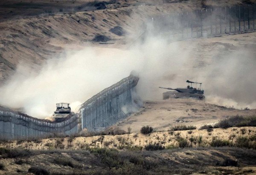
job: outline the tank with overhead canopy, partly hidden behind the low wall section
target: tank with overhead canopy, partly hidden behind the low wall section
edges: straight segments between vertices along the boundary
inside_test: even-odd
[[[69,105],[69,103],[57,103],[57,108],[54,111],[52,118],[55,119],[55,121],[60,122],[69,115],[75,115],[75,113],[71,112],[71,107]]]

